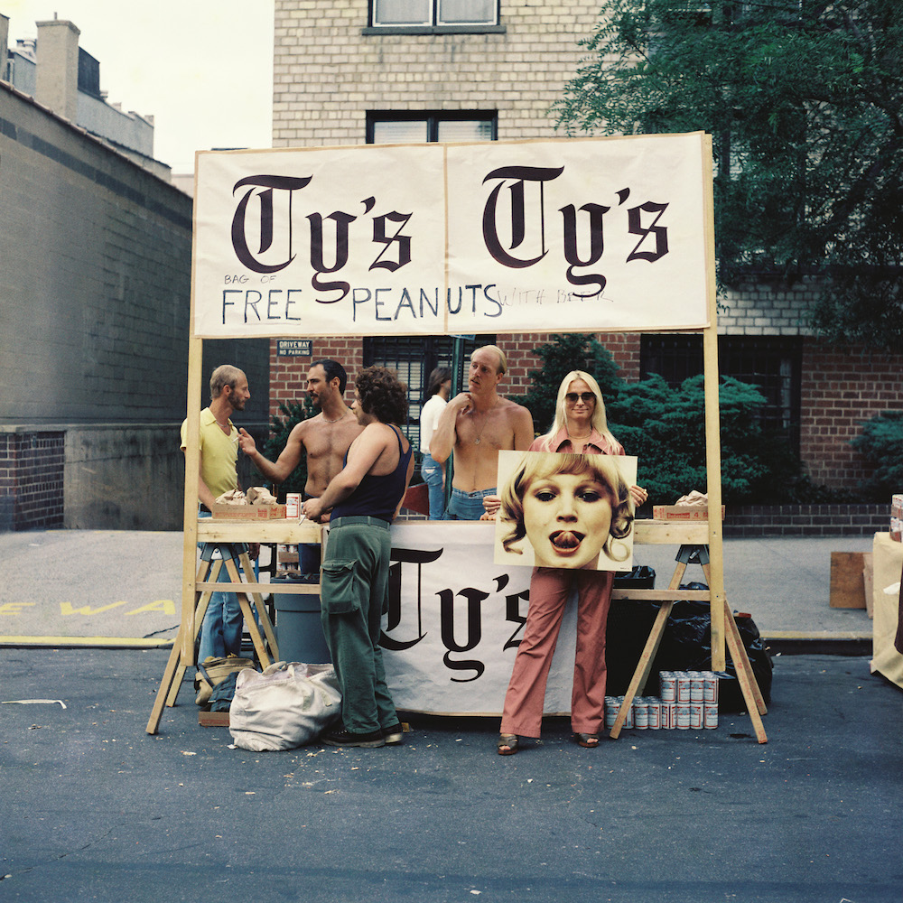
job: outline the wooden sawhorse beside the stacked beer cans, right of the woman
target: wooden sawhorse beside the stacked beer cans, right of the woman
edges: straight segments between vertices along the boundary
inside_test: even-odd
[[[706,581],[711,582],[709,576],[709,547],[707,545],[681,545],[680,552],[677,554],[675,573],[668,584],[668,590],[678,590],[680,588],[687,565],[694,563],[702,566]],[[624,722],[627,720],[627,713],[633,705],[634,697],[642,694],[646,687],[649,672],[652,670],[652,663],[658,652],[662,636],[665,633],[665,625],[671,615],[674,604],[675,600],[673,599],[663,601],[661,608],[658,610],[655,623],[649,632],[646,646],[639,656],[637,670],[630,680],[627,693],[624,694],[624,702],[621,703],[618,717],[615,720],[614,727],[611,729],[609,736],[612,740],[618,739],[621,729],[624,727]],[[765,700],[762,698],[756,675],[753,674],[752,666],[749,664],[749,656],[743,647],[740,631],[737,629],[737,624],[733,619],[733,613],[727,600],[724,600],[724,635],[727,640],[728,651],[731,653],[731,659],[737,670],[737,679],[740,681],[740,690],[743,693],[743,699],[746,701],[749,718],[752,720],[753,728],[756,731],[756,739],[759,740],[759,743],[767,743],[768,737],[765,734],[765,727],[760,716],[766,714],[768,709],[765,706]]]

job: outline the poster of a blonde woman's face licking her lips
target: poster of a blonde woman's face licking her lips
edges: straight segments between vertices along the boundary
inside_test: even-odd
[[[629,571],[636,482],[628,455],[499,452],[493,561]]]

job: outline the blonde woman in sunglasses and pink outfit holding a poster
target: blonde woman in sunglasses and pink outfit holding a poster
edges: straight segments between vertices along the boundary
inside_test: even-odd
[[[638,486],[623,487],[623,481],[619,485],[617,478],[612,478],[610,474],[606,476],[607,471],[588,467],[580,472],[574,466],[574,459],[580,455],[624,454],[620,443],[609,432],[599,384],[590,374],[573,370],[564,377],[558,389],[552,429],[536,439],[530,446],[530,451],[566,452],[565,461],[570,463],[565,470],[578,471],[567,475],[572,478],[570,488],[566,491],[571,494],[571,507],[574,510],[564,511],[560,515],[563,520],[558,535],[555,536],[554,531],[547,531],[547,535],[551,537],[549,545],[557,545],[558,552],[583,545],[582,537],[587,534],[576,528],[577,521],[574,519],[577,517],[575,508],[581,501],[584,507],[598,507],[602,514],[608,508],[608,529],[603,533],[604,543],[619,538],[618,533],[627,535],[622,531],[629,531],[633,507],[646,501],[646,490]],[[540,479],[547,480],[548,476]],[[555,491],[537,483],[536,479],[531,479],[524,487],[523,498],[530,495],[531,489],[534,496],[548,496]],[[564,494],[565,490],[562,492]],[[582,499],[579,498],[581,493]],[[541,502],[542,498],[536,500]],[[521,519],[525,522],[526,532],[527,517]],[[598,530],[600,526],[597,525],[596,528]],[[537,535],[541,537],[542,533]],[[585,554],[581,558],[582,563],[577,566],[558,563],[554,567],[541,565],[533,569],[524,638],[517,647],[514,670],[505,695],[498,737],[500,756],[516,753],[519,737],[540,736],[545,684],[561,629],[564,606],[573,588],[577,590],[578,602],[571,727],[573,739],[580,746],[592,749],[599,745],[599,732],[605,715],[605,627],[614,573],[595,570],[598,554],[585,561],[584,557]],[[548,562],[555,559],[543,557],[542,560]]]

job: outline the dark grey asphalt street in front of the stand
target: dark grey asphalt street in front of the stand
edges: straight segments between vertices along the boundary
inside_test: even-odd
[[[0,648],[0,900],[898,903],[903,694],[863,656],[777,656],[768,743],[409,716],[400,747],[233,749],[167,653]]]

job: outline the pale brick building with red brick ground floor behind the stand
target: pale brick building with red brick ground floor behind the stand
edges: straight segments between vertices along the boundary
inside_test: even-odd
[[[276,0],[274,146],[554,136],[549,107],[598,13],[577,0]],[[762,387],[768,417],[816,482],[852,487],[865,464],[849,442],[862,420],[900,406],[903,357],[825,347],[805,326],[811,292],[763,281],[721,297],[720,369]],[[507,394],[526,388],[545,338],[498,337],[511,364]],[[628,379],[660,373],[679,382],[702,370],[698,335],[600,340]],[[443,337],[336,338],[313,340],[312,357],[338,358],[352,373],[398,366],[417,402],[450,347]],[[310,359],[282,357],[271,342],[273,413],[302,393]]]

